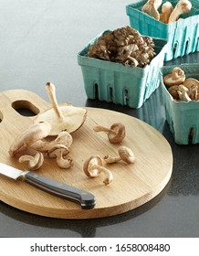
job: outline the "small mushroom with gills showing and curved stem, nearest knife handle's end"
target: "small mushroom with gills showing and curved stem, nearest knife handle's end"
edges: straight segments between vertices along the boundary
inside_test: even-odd
[[[104,173],[105,178],[103,183],[105,185],[110,184],[113,180],[112,173],[109,169],[102,166],[103,162],[99,155],[92,155],[87,159],[83,165],[84,173],[89,177],[97,177],[100,173]]]

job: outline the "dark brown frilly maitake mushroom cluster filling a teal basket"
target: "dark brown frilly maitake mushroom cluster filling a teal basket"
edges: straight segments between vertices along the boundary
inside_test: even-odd
[[[121,27],[99,37],[89,46],[87,56],[144,68],[155,56],[154,42],[134,28]]]

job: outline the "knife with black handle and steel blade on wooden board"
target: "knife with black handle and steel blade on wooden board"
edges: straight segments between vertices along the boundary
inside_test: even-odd
[[[39,176],[30,171],[21,171],[15,167],[0,163],[0,174],[15,180],[25,181],[49,194],[78,203],[82,209],[94,208],[96,203],[95,196],[85,190],[71,187],[68,184],[60,183],[45,176]]]

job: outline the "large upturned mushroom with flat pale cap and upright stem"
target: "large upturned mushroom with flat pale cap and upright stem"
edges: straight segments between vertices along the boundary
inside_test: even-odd
[[[51,132],[49,135],[58,135],[62,131],[68,131],[68,133],[77,131],[86,120],[87,110],[74,107],[70,103],[58,104],[56,89],[51,82],[47,82],[46,90],[52,108],[39,113],[35,119],[35,123],[50,123]]]

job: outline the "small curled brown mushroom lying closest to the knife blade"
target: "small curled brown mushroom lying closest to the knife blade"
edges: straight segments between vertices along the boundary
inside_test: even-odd
[[[22,155],[19,157],[18,161],[19,163],[25,163],[28,170],[36,171],[43,165],[44,155],[40,152],[37,152],[36,155]]]

